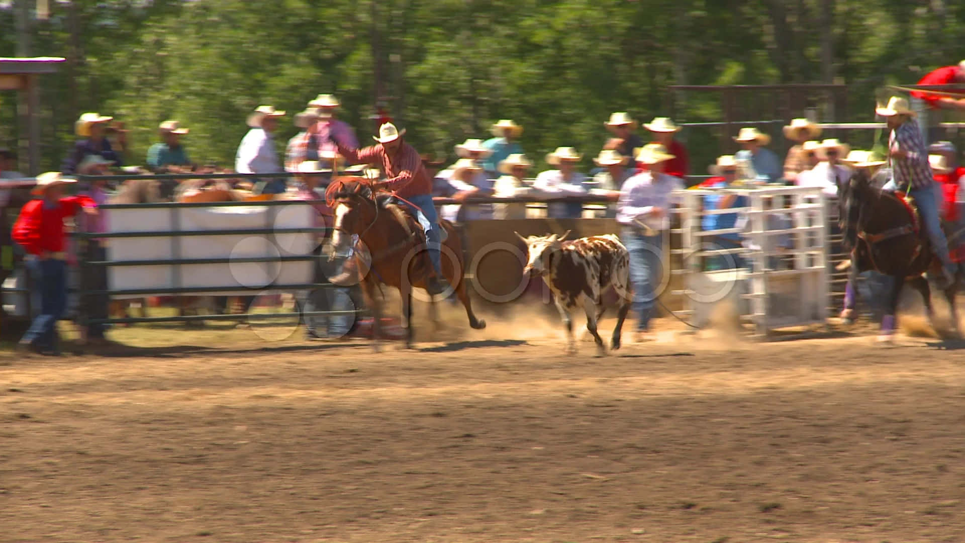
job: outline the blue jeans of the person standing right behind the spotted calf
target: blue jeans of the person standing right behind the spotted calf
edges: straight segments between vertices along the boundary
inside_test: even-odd
[[[630,253],[630,283],[633,285],[633,311],[639,321],[637,329],[649,329],[653,303],[659,293],[663,273],[663,237],[644,236],[632,228],[623,228],[620,241]]]

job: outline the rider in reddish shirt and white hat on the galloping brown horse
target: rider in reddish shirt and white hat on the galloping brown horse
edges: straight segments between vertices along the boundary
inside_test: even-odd
[[[406,204],[414,208],[419,224],[426,232],[426,248],[434,277],[427,278],[426,290],[430,295],[441,294],[449,288],[449,284],[442,275],[439,230],[439,219],[432,203],[432,180],[426,173],[422,157],[402,136],[405,129],[399,131],[396,126],[386,123],[378,128],[378,137],[372,139],[378,142],[364,149],[345,147],[342,141],[335,138],[339,147],[339,154],[349,163],[368,163],[379,166],[385,172],[386,180],[372,184],[372,189],[387,188],[395,192]]]

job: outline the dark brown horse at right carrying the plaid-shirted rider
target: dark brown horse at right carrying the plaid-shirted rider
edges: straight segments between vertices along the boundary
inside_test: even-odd
[[[871,186],[864,171],[855,173],[841,186],[841,232],[844,246],[851,253],[848,283],[844,292],[841,320],[853,323],[855,287],[858,274],[875,271],[895,278],[892,291],[885,300],[879,340],[890,340],[895,333],[895,314],[901,287],[907,283],[922,294],[928,319],[932,317],[931,289],[925,272],[939,272],[941,263],[931,252],[928,237],[921,232],[921,220],[894,193]],[[960,277],[944,291],[951,307],[951,320],[958,333],[955,291]]]

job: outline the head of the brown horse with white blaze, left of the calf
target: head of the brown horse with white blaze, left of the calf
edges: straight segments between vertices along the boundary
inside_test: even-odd
[[[352,235],[361,236],[372,226],[377,214],[372,186],[357,177],[337,177],[325,189],[325,203],[335,213],[331,248],[345,252]]]

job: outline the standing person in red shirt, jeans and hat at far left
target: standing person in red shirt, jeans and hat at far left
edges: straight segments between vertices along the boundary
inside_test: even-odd
[[[63,186],[75,180],[59,172],[37,176],[33,194],[40,198],[27,202],[14,223],[14,242],[27,250],[26,259],[41,308],[30,329],[23,334],[17,350],[59,355],[57,321],[67,308],[67,254],[64,217],[81,209],[96,215],[96,203],[87,196],[64,196]]]

